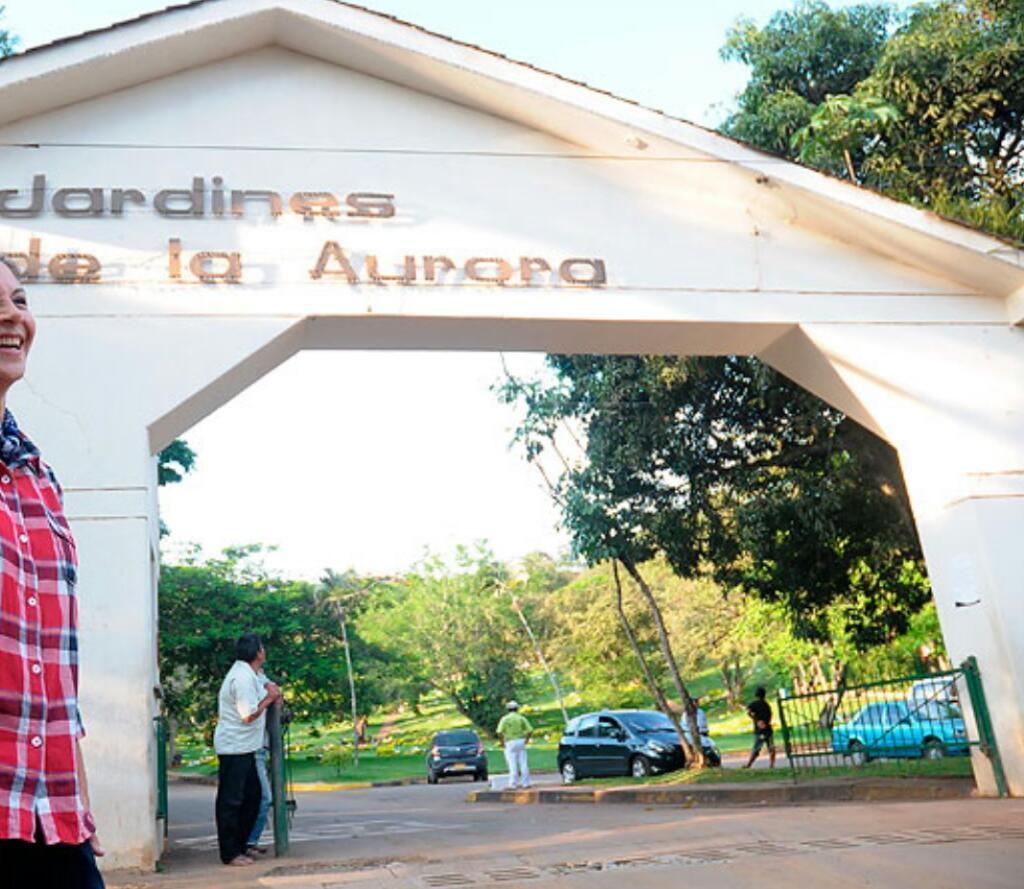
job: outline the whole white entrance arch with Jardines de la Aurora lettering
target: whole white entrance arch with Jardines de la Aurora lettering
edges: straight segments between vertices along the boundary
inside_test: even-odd
[[[159,848],[154,455],[301,349],[760,356],[898,449],[1024,794],[1019,251],[334,0],[201,0],[0,65],[0,251],[34,279],[11,400],[80,544],[112,865]]]

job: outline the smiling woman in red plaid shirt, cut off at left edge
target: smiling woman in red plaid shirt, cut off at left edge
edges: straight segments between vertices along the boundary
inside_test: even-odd
[[[35,336],[25,288],[0,261],[0,866],[5,885],[96,889],[75,542],[53,471],[6,410]]]

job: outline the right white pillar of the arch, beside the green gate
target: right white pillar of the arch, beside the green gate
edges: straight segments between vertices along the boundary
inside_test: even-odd
[[[899,450],[946,645],[955,662],[977,657],[1010,791],[1024,796],[1024,330],[852,325],[805,335],[819,354],[796,350],[778,364],[814,390],[805,372],[823,355]],[[978,771],[993,793],[987,768]]]

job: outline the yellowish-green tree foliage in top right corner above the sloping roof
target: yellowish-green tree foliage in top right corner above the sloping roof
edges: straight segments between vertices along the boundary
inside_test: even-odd
[[[864,182],[1024,241],[1024,4],[915,7],[858,92],[900,111]]]

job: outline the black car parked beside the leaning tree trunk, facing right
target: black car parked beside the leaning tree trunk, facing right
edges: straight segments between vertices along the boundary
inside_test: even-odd
[[[721,762],[714,742],[701,740],[710,761]],[[607,775],[643,777],[684,765],[679,735],[656,710],[587,713],[569,720],[558,743],[558,770],[565,784]]]

